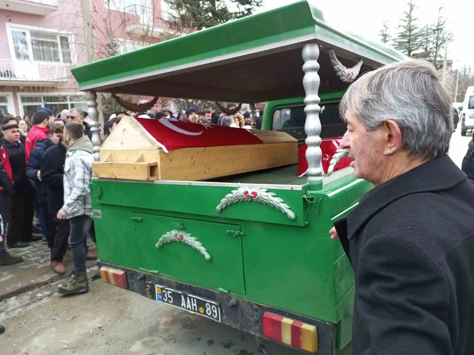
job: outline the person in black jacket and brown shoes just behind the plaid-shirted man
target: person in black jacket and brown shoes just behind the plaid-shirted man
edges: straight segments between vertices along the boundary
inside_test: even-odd
[[[64,274],[63,257],[67,251],[69,221],[59,220],[56,215],[64,204],[64,161],[66,147],[62,140],[46,149],[40,160],[40,176],[46,186],[48,214],[54,222],[55,233],[51,248],[51,268],[57,274]]]

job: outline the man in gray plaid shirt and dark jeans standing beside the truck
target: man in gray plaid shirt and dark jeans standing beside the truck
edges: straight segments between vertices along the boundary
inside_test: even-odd
[[[63,142],[67,145],[64,163],[64,205],[58,219],[69,219],[69,246],[73,252],[74,272],[67,285],[59,286],[60,294],[89,291],[86,273],[85,240],[92,222],[91,183],[92,143],[77,122],[64,126]]]

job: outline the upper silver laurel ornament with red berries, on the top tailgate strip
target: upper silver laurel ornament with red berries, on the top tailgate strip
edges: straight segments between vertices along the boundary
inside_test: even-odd
[[[231,204],[250,201],[255,201],[276,208],[292,221],[296,219],[296,214],[292,211],[292,208],[286,204],[282,198],[278,197],[273,192],[269,192],[265,188],[239,187],[237,190],[232,190],[230,193],[225,195],[222,200],[220,200],[220,203],[216,207],[216,211],[217,213],[220,213]]]

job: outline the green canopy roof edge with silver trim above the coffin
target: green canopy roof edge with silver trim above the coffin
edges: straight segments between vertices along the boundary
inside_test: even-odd
[[[125,80],[133,75],[164,69],[173,71],[172,68],[179,65],[192,66],[198,61],[208,61],[222,55],[231,56],[239,51],[311,34],[316,38],[331,40],[356,53],[364,53],[380,64],[407,58],[386,44],[337,29],[336,25],[325,21],[319,9],[302,0],[73,68],[72,73],[80,88],[93,88],[94,85],[100,86],[100,83],[109,80]]]

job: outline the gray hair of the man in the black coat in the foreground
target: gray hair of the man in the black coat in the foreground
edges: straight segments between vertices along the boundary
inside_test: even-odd
[[[339,104],[344,117],[359,117],[367,131],[384,122],[398,124],[403,148],[413,157],[445,154],[453,132],[449,91],[428,62],[408,60],[362,75],[349,86]]]

